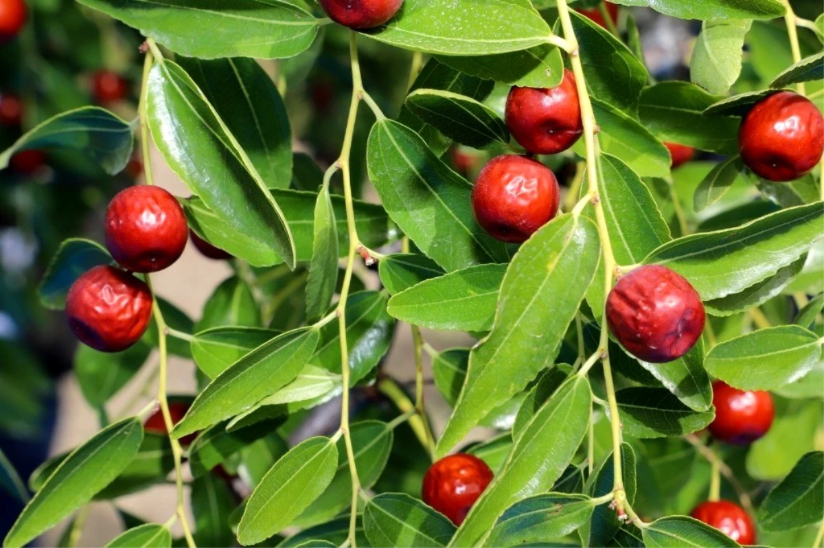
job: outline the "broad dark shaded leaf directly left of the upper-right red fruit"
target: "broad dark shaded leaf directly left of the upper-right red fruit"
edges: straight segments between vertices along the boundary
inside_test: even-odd
[[[737,154],[737,118],[708,118],[704,111],[723,99],[685,81],[663,81],[641,94],[641,123],[662,141],[702,151]]]

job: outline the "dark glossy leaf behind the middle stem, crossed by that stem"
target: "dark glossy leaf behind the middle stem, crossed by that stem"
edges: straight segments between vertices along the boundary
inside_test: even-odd
[[[389,351],[395,334],[395,319],[386,313],[387,295],[361,291],[346,302],[346,341],[349,346],[349,385],[366,377]],[[340,373],[340,329],[337,322],[321,327],[321,341],[313,364]]]

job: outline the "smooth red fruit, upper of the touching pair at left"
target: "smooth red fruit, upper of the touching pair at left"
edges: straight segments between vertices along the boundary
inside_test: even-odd
[[[157,272],[183,253],[189,227],[183,207],[163,188],[138,185],[117,193],[105,215],[105,244],[132,272]]]

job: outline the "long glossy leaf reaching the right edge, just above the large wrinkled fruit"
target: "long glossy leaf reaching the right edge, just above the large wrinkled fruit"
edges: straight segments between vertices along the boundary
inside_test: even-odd
[[[746,290],[807,252],[824,235],[824,202],[790,207],[728,230],[672,240],[650,253],[686,277],[702,300]],[[765,260],[768,258],[768,260]]]

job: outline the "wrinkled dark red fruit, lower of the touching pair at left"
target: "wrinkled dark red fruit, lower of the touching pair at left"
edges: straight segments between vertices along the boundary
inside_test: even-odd
[[[101,265],[69,288],[66,316],[82,343],[101,352],[124,351],[146,331],[152,317],[152,292],[129,272]]]

